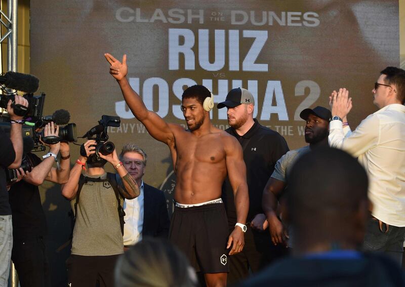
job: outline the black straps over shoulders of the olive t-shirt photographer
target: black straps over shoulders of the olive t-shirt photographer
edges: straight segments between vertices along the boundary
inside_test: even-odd
[[[116,180],[115,174],[113,173],[107,173],[107,177],[105,179],[101,179],[101,178],[91,178],[91,177],[85,177],[83,174],[80,175],[79,178],[79,183],[78,183],[78,189],[76,192],[76,198],[74,201],[74,214],[73,214],[73,219],[74,221],[76,221],[76,214],[77,214],[77,204],[79,202],[79,197],[80,197],[80,191],[82,190],[82,187],[85,183],[88,182],[106,182],[108,181],[109,184],[111,185],[112,189],[114,190],[115,193],[115,198],[117,199],[117,210],[118,210],[118,217],[119,217],[119,225],[121,227],[121,233],[123,233],[124,235],[124,216],[125,216],[125,212],[124,212],[124,208],[121,206],[121,200],[120,200],[120,195],[119,195],[119,191],[118,191],[118,182]]]

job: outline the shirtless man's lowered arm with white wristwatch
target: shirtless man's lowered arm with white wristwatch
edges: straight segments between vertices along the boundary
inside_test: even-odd
[[[249,194],[248,183],[246,180],[246,165],[242,153],[242,147],[232,136],[226,136],[224,139],[226,169],[228,171],[229,182],[234,194],[236,221],[238,223],[246,224],[246,218],[249,211]],[[229,252],[229,255],[241,252],[245,245],[244,233],[239,226],[235,226],[234,230],[229,235],[227,248],[229,248],[231,244],[232,249]]]

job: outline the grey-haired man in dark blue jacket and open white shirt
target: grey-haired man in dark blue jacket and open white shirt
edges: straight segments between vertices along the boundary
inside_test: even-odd
[[[126,144],[119,158],[140,189],[138,197],[124,202],[125,248],[145,236],[167,238],[170,220],[165,194],[142,180],[146,168],[146,153],[134,144]]]

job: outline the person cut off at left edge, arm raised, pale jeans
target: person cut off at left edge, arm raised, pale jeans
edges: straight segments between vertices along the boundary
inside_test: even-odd
[[[9,100],[7,112],[10,116],[10,137],[0,129],[0,286],[6,286],[9,279],[10,257],[13,247],[13,227],[9,193],[7,191],[5,169],[15,169],[21,165],[22,158],[22,116],[15,114],[14,106],[28,106],[21,96],[15,96],[14,103]]]

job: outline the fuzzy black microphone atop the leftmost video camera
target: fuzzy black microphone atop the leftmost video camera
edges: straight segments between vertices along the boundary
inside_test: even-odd
[[[7,72],[0,76],[0,84],[9,89],[32,94],[38,90],[39,79],[29,74]]]

